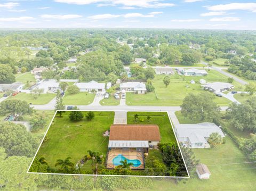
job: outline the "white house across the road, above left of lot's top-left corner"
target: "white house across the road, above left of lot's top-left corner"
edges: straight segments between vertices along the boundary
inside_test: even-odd
[[[35,88],[43,89],[44,90],[43,93],[46,94],[49,91],[54,92],[58,89],[60,90],[60,83],[54,79],[45,79],[45,80],[39,81]]]

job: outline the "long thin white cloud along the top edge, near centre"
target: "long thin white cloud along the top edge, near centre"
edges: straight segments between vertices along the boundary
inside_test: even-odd
[[[161,3],[162,0],[54,0],[58,3],[68,3],[76,5],[88,5],[101,3],[100,6],[121,5],[124,7],[161,8],[175,6],[173,3]]]

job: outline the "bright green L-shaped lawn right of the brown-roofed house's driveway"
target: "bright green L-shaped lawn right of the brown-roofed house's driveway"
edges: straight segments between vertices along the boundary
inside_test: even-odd
[[[138,113],[139,119],[134,121],[134,114]],[[147,116],[150,121],[147,121]],[[142,121],[143,119],[143,121]],[[161,143],[176,142],[172,126],[166,112],[127,112],[127,124],[157,124],[161,135]]]

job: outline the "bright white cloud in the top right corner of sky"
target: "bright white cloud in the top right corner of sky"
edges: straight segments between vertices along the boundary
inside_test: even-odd
[[[211,11],[247,10],[256,12],[256,3],[230,3],[207,6],[206,8]]]

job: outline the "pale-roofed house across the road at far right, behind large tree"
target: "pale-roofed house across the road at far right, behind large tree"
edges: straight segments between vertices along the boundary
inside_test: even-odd
[[[205,90],[209,90],[215,94],[234,89],[235,86],[227,82],[212,82],[202,85]]]

